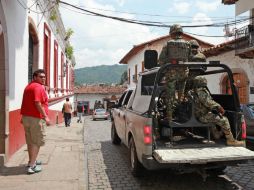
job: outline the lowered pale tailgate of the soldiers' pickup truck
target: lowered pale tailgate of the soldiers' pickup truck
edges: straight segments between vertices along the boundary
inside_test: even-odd
[[[158,149],[154,151],[153,156],[159,163],[204,164],[253,159],[254,152],[244,147]]]

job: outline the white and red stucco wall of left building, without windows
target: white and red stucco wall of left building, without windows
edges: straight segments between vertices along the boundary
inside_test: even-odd
[[[1,72],[2,79],[4,80],[2,86],[4,86],[3,92],[6,93],[5,99],[0,96],[0,102],[5,109],[5,113],[2,119],[5,123],[1,123],[1,126],[5,126],[3,129],[0,128],[1,147],[4,147],[4,152],[0,150],[1,154],[5,154],[5,157],[9,158],[15,151],[17,151],[25,142],[24,130],[20,123],[20,106],[22,102],[22,95],[25,86],[28,84],[28,57],[29,57],[29,22],[33,22],[34,35],[37,35],[38,39],[38,52],[34,52],[37,56],[36,68],[43,68],[43,55],[44,55],[44,23],[47,23],[51,30],[51,41],[50,41],[50,88],[54,87],[54,40],[58,41],[58,73],[60,75],[61,69],[61,52],[64,53],[63,44],[65,43],[63,38],[59,37],[56,33],[54,22],[47,19],[48,11],[50,7],[41,8],[46,6],[49,1],[39,0],[35,3],[34,0],[1,0],[0,1],[0,21],[4,31],[4,60],[1,60]],[[21,3],[21,4],[20,4]],[[30,7],[33,5],[32,7]],[[27,7],[31,8],[31,11],[27,10]],[[42,12],[45,11],[44,14]],[[60,18],[60,17],[59,17]],[[58,19],[59,19],[58,18]],[[60,29],[63,29],[60,28]],[[62,41],[60,41],[62,40]],[[1,39],[1,43],[2,43]],[[34,60],[34,59],[33,59]],[[70,74],[69,74],[70,76]],[[5,77],[5,78],[4,78]],[[57,77],[58,78],[58,77]],[[70,77],[69,77],[70,79]],[[61,87],[60,77],[58,78],[58,88]],[[66,88],[66,81],[64,78],[64,89]],[[2,95],[4,95],[2,93]],[[49,107],[49,117],[54,124],[56,122],[56,115],[59,114],[62,108],[64,99],[61,99],[62,95],[70,95],[71,91],[64,91],[64,94],[59,93],[58,96],[53,94],[51,98],[56,98],[57,104],[53,104]],[[65,96],[63,96],[65,97]],[[73,97],[70,97],[73,102]],[[4,103],[5,102],[5,103]],[[1,107],[1,106],[0,106]],[[59,122],[62,122],[62,116],[58,118]],[[3,145],[3,142],[5,143]],[[1,149],[1,148],[0,148]],[[1,163],[0,163],[1,164]]]

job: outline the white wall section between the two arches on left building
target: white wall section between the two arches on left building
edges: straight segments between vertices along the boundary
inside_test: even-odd
[[[9,109],[20,108],[28,73],[28,20],[17,1],[2,1],[8,41],[9,57]],[[15,12],[15,14],[13,14]]]

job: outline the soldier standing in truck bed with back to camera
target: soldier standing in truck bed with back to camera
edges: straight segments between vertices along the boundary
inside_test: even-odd
[[[182,39],[182,27],[178,24],[170,27],[171,40],[162,48],[159,55],[159,64],[179,64],[188,61],[189,43]],[[166,91],[167,91],[167,118],[172,120],[174,106],[184,97],[184,88],[188,77],[187,67],[170,68],[166,74]],[[176,101],[176,86],[178,87]]]

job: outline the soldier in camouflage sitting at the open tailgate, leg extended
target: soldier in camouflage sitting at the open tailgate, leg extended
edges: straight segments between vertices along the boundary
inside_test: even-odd
[[[194,100],[195,100],[195,116],[202,123],[214,123],[221,127],[227,139],[227,145],[242,146],[243,141],[234,139],[228,118],[223,116],[225,110],[215,102],[207,90],[207,80],[205,77],[195,77],[194,79]],[[212,129],[214,136],[218,136],[218,130]],[[216,138],[216,137],[215,137]],[[218,137],[217,137],[218,138]]]

